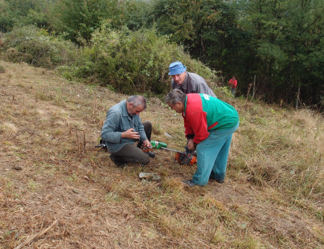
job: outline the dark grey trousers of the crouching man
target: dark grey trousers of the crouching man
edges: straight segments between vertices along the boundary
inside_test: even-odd
[[[152,124],[150,121],[144,121],[142,122],[144,126],[144,131],[146,136],[148,137],[148,140],[151,140],[151,134],[152,134]],[[145,153],[140,149],[141,142],[139,144],[126,144],[123,148],[121,148],[119,151],[112,153],[114,155],[114,158],[118,162],[129,162],[132,164],[139,163],[141,165],[148,164],[150,162],[150,157],[148,153]]]

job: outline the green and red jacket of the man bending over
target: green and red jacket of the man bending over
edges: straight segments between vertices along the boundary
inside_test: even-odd
[[[209,131],[230,129],[239,122],[239,113],[232,105],[206,94],[187,94],[182,116],[185,137],[193,138],[195,144],[208,138]]]

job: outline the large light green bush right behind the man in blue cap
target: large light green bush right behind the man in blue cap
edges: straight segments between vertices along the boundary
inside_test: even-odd
[[[154,29],[132,32],[114,31],[105,23],[92,34],[90,47],[84,47],[76,63],[78,77],[111,85],[123,94],[165,94],[170,90],[168,66],[182,61],[188,71],[211,82],[214,72],[170,43],[167,36],[157,36]]]

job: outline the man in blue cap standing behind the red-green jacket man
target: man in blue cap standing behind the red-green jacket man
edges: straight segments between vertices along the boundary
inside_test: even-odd
[[[172,89],[180,89],[184,94],[207,94],[216,97],[205,80],[198,74],[187,72],[187,68],[180,61],[170,64],[169,75],[172,76]]]

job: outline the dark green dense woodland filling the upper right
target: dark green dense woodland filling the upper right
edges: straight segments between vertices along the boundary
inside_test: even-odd
[[[194,58],[239,80],[241,94],[256,76],[267,102],[314,105],[323,96],[323,2],[317,0],[154,1],[161,34]]]

